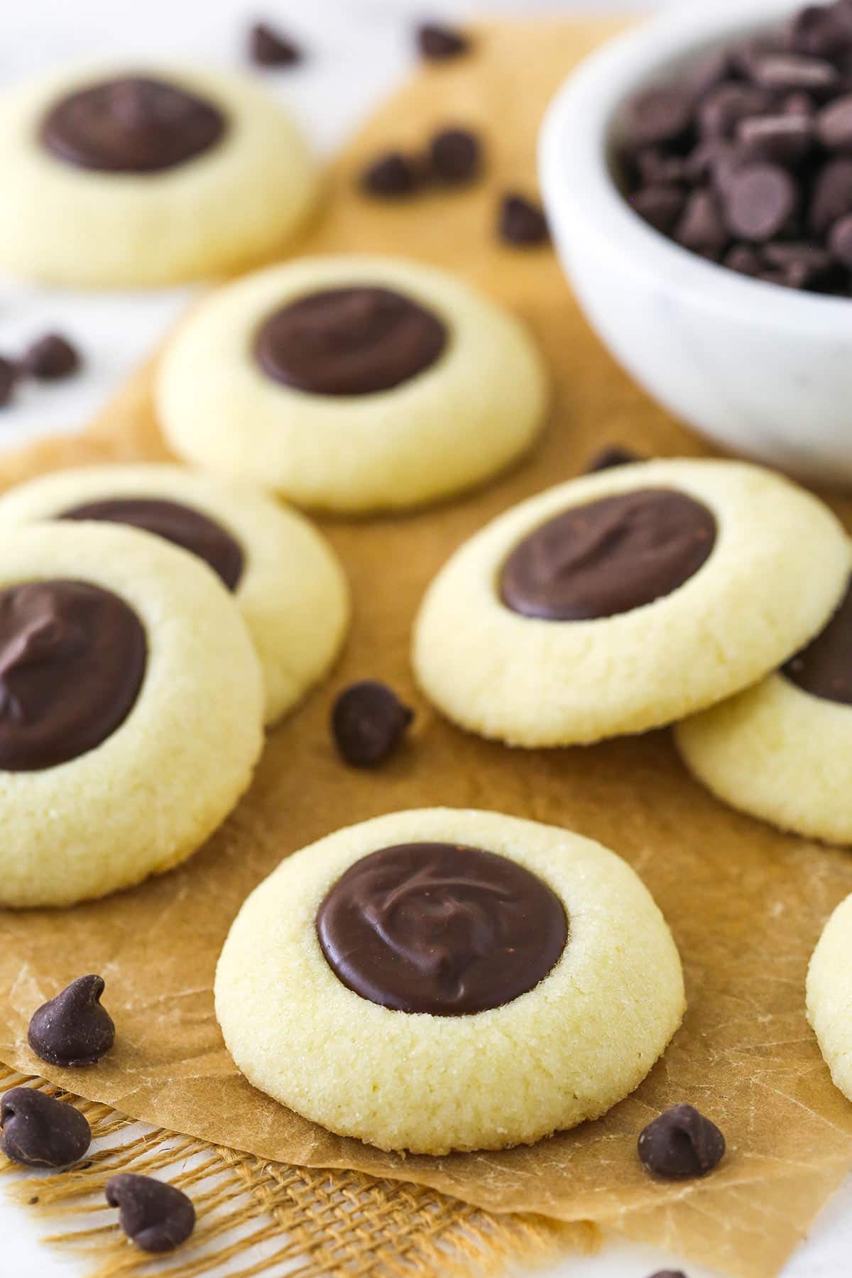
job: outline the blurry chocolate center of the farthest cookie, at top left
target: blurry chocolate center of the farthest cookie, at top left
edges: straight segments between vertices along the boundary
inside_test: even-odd
[[[42,121],[41,141],[80,169],[160,173],[209,151],[225,129],[212,102],[178,84],[125,75],[59,98]]]

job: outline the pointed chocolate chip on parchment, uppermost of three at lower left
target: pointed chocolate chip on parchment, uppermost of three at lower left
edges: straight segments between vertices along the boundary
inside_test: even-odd
[[[95,1065],[115,1042],[112,1017],[101,1007],[101,976],[78,976],[33,1012],[27,1040],[50,1065]]]

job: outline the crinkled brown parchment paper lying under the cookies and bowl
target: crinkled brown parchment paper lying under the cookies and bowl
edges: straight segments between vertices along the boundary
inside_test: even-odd
[[[807,958],[826,915],[852,891],[852,858],[718,804],[686,774],[666,732],[538,753],[466,736],[419,697],[407,662],[423,589],[487,519],[576,473],[604,443],[658,455],[706,451],[603,351],[552,252],[511,250],[492,235],[497,193],[534,189],[535,133],[548,97],[611,29],[600,22],[489,26],[474,58],[424,69],[335,167],[307,249],[407,253],[515,307],[553,373],[545,437],[511,475],[466,500],[409,518],[323,521],[355,599],[332,679],[271,734],[248,797],[188,865],[65,912],[0,914],[0,1059],[262,1158],[409,1180],[492,1212],[594,1220],[740,1278],[769,1278],[852,1167],[852,1105],[832,1086],[803,1013]],[[436,125],[456,121],[483,128],[488,139],[489,175],[476,189],[404,207],[368,203],[354,190],[354,174],[374,150],[420,143]],[[146,368],[82,438],[3,459],[0,482],[93,459],[164,455]],[[852,502],[835,507],[852,523]],[[376,774],[344,768],[327,730],[335,693],[364,676],[388,680],[418,711],[410,744]],[[598,838],[637,869],[666,912],[683,958],[688,1013],[645,1084],[599,1122],[502,1154],[388,1157],[276,1105],[229,1059],[211,984],[245,895],[282,856],[339,826],[429,804],[498,809]],[[46,1068],[26,1047],[28,1017],[82,971],[106,978],[115,1051],[91,1071]],[[671,1186],[643,1173],[635,1140],[677,1100],[720,1123],[729,1154],[705,1181]]]

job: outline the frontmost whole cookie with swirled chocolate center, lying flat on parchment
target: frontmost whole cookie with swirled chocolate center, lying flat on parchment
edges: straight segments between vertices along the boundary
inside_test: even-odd
[[[683,1006],[674,942],[625,861],[565,829],[439,808],[285,860],[216,971],[249,1082],[331,1131],[428,1154],[597,1118],[639,1086]]]

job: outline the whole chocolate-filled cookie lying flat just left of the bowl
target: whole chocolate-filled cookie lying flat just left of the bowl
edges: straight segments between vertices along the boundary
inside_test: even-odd
[[[203,302],[167,348],[157,413],[181,458],[341,512],[459,492],[524,452],[545,377],[521,323],[396,258],[307,258]]]

